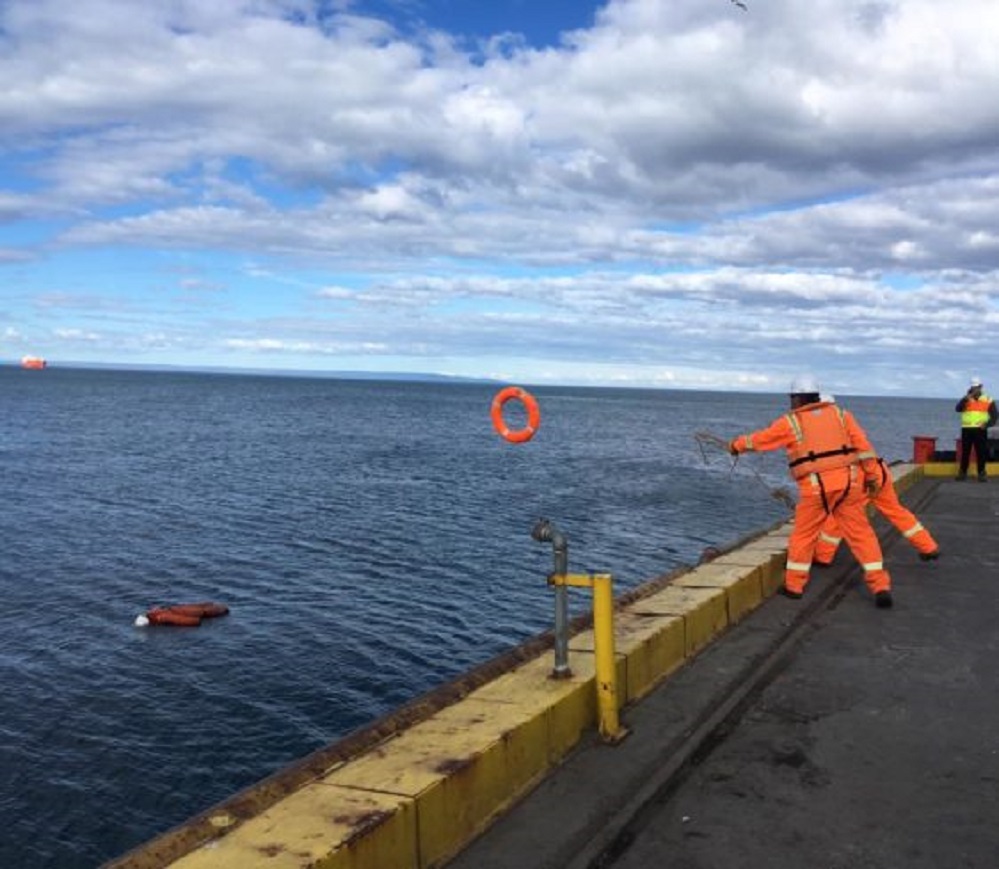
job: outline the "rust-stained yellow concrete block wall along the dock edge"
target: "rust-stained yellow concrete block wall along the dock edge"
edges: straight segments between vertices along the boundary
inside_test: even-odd
[[[925,466],[896,464],[904,491]],[[615,614],[620,704],[634,703],[783,581],[791,522],[675,576]],[[497,676],[246,819],[209,818],[218,836],[155,861],[155,840],[120,866],[177,869],[432,869],[526,794],[597,724],[593,632]],[[607,748],[613,751],[612,747]]]

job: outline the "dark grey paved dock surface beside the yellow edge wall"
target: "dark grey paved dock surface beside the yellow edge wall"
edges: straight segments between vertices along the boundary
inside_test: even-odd
[[[999,479],[924,478],[922,562],[880,518],[895,605],[846,547],[622,710],[449,869],[995,869]]]

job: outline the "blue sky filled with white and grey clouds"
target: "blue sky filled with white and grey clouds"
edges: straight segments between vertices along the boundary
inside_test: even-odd
[[[999,393],[995,0],[0,0],[0,361]]]

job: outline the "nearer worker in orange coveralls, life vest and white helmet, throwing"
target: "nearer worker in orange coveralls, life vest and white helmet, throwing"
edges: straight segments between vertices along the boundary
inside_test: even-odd
[[[877,494],[881,482],[870,441],[853,414],[820,400],[819,385],[811,375],[794,379],[790,399],[790,413],[729,443],[729,452],[735,456],[780,447],[787,450],[799,498],[781,593],[790,598],[804,594],[819,530],[828,516],[834,516],[864,569],[875,605],[890,607],[891,577],[867,519],[867,498]]]

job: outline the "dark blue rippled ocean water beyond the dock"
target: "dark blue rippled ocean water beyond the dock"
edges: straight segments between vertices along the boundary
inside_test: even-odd
[[[0,866],[96,866],[548,630],[542,516],[617,591],[788,516],[780,456],[693,436],[784,396],[539,387],[512,445],[496,389],[0,367]],[[952,448],[952,402],[841,403]]]

